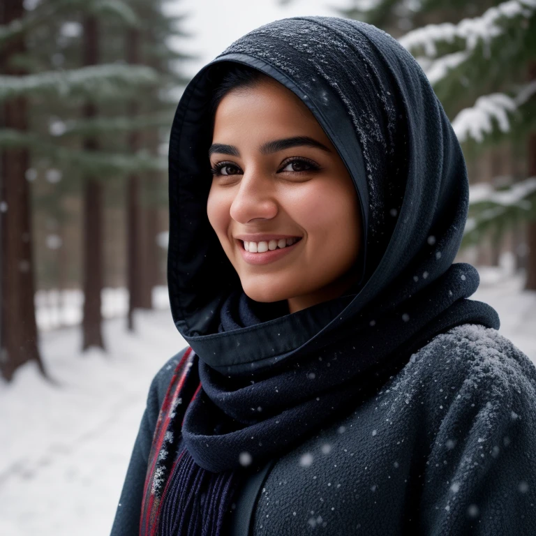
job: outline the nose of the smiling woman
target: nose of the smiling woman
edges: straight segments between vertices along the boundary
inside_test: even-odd
[[[231,203],[231,218],[238,223],[248,223],[255,218],[274,218],[277,211],[271,179],[244,174]]]

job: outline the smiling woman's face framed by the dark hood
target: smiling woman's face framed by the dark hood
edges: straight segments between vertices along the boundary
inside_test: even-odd
[[[340,296],[356,281],[357,191],[341,157],[295,94],[263,77],[216,110],[207,214],[255,301],[291,313]]]

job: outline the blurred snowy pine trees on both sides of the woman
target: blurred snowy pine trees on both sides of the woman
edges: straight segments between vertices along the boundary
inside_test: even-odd
[[[281,0],[281,6],[292,0]],[[0,372],[40,359],[38,332],[154,307],[165,285],[167,137],[191,54],[162,1],[0,6]],[[461,260],[510,265],[536,290],[536,1],[354,0],[424,68],[468,162]],[[115,292],[114,292],[115,290]],[[106,297],[106,298],[105,298]],[[106,303],[103,304],[103,299]]]

